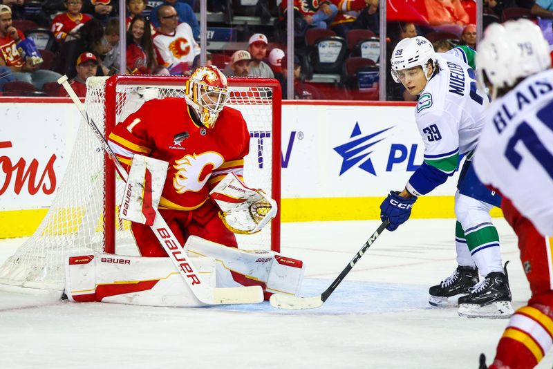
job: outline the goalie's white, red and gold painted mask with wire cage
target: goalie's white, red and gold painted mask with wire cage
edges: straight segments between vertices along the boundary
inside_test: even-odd
[[[200,66],[186,82],[186,101],[200,121],[212,128],[229,101],[227,77],[216,66]]]

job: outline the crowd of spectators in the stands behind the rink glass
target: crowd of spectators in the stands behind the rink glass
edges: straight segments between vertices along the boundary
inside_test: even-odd
[[[288,2],[246,3],[207,1],[209,15],[221,15],[219,23],[208,17],[208,29],[223,19],[236,41],[228,45],[247,44],[210,49],[208,37],[207,64],[227,76],[277,78],[286,98]],[[126,35],[120,35],[118,5],[116,0],[0,0],[0,92],[64,95],[55,81],[68,75],[83,94],[93,75],[188,75],[200,65],[199,0],[126,0]],[[536,23],[553,18],[549,0],[483,0],[483,5],[484,27],[516,17]],[[233,23],[240,12],[258,18],[258,26]],[[416,35],[431,40],[438,52],[458,44],[476,48],[474,0],[388,0],[387,12],[387,59],[397,42]],[[294,0],[293,19],[294,98],[377,100],[379,0]],[[125,70],[120,70],[120,37],[126,40]],[[388,100],[415,99],[387,81]]]

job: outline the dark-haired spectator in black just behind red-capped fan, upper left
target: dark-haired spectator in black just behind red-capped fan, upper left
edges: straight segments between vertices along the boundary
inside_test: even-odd
[[[75,65],[77,57],[88,51],[93,53],[97,58],[105,53],[102,46],[102,38],[104,37],[104,27],[97,19],[91,19],[84,23],[79,28],[75,36],[69,35],[66,41],[62,44],[59,59],[62,61],[56,69],[59,73],[67,75],[69,79],[77,75]],[[96,75],[104,75],[104,71],[100,66]]]

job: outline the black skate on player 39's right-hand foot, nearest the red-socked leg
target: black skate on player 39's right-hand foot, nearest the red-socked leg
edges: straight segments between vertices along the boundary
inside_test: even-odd
[[[469,318],[510,318],[511,290],[507,263],[502,272],[491,272],[478,285],[471,287],[467,296],[459,298],[459,315]]]

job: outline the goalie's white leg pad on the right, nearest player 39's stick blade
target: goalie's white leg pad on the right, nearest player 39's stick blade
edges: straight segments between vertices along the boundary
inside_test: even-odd
[[[271,293],[299,294],[305,266],[297,259],[272,251],[244,251],[197,236],[189,236],[185,249],[191,257],[215,259],[217,287],[261,285]]]

